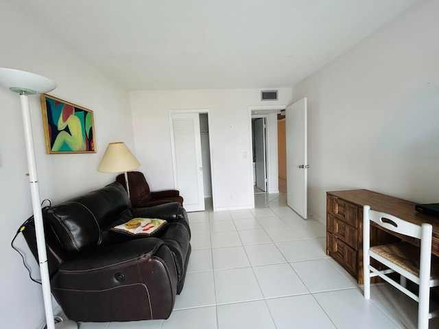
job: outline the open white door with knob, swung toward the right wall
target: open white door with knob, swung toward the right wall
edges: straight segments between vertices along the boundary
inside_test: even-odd
[[[307,98],[285,109],[287,205],[307,219]]]

